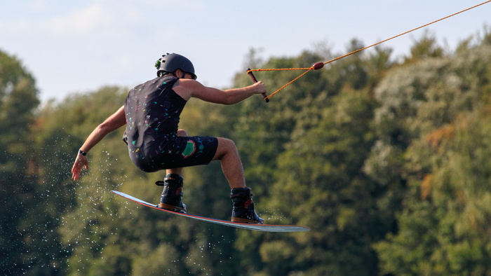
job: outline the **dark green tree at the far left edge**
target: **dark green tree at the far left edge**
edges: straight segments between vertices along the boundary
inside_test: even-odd
[[[53,216],[39,209],[32,126],[39,105],[32,75],[17,57],[0,51],[0,273],[20,275],[27,270],[49,274],[52,259],[60,257]],[[43,255],[37,254],[43,250]],[[54,262],[54,264],[56,261]]]

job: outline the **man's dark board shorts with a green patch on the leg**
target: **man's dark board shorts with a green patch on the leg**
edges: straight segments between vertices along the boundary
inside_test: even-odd
[[[165,144],[150,143],[130,149],[133,163],[144,172],[208,165],[218,148],[218,139],[208,136],[175,137]],[[132,152],[133,151],[133,152]]]

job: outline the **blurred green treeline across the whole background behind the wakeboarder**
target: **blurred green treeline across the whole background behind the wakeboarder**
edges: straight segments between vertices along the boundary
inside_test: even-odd
[[[362,48],[353,40],[347,51]],[[328,48],[253,68],[306,67]],[[273,91],[297,71],[259,72]],[[150,78],[150,77],[149,77]],[[144,80],[142,80],[144,81]],[[238,73],[234,86],[249,85]],[[303,233],[261,233],[168,216],[109,193],[158,202],[162,173],[138,171],[109,134],[80,181],[69,170],[128,88],[39,107],[34,78],[0,52],[0,274],[489,275],[491,34],[451,53],[425,34],[406,57],[350,55],[235,106],[189,101],[180,127],[229,137],[257,212]],[[229,219],[219,163],[184,170],[192,214]]]

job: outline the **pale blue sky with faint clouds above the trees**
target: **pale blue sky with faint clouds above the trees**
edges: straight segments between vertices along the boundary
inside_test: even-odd
[[[485,1],[0,0],[0,50],[34,76],[42,102],[105,85],[131,88],[156,76],[165,53],[188,57],[204,85],[230,88],[251,49],[263,60],[319,45],[344,55],[352,39],[368,46]],[[381,46],[407,55],[429,32],[455,50],[485,27],[491,3]]]

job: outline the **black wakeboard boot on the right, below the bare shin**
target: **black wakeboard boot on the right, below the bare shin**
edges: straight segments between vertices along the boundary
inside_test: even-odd
[[[230,198],[234,203],[232,209],[232,221],[240,223],[263,224],[264,219],[257,216],[254,210],[253,193],[248,187],[233,188]]]

